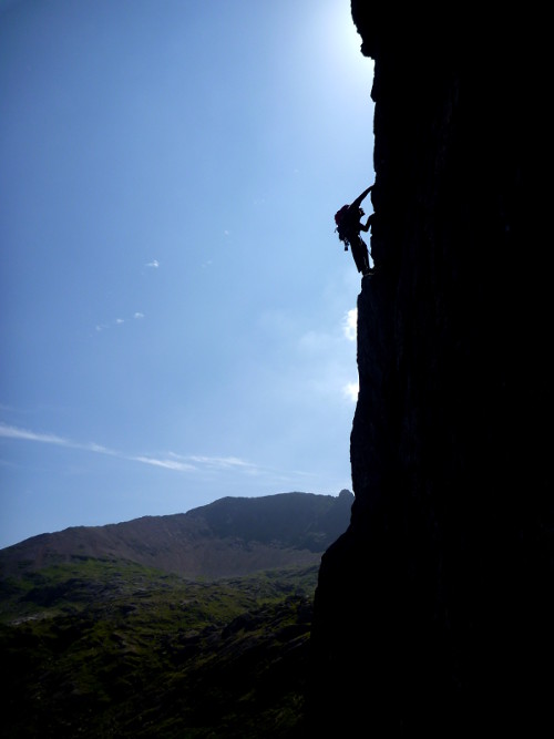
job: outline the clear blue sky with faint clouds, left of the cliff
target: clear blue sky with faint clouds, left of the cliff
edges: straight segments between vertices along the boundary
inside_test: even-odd
[[[360,44],[349,0],[0,0],[0,548],[351,490]]]

